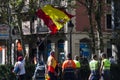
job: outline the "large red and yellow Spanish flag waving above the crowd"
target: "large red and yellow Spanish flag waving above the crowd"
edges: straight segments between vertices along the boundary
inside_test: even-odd
[[[73,15],[51,5],[45,5],[43,8],[38,9],[37,16],[43,19],[51,30],[51,34],[57,33],[73,17]]]

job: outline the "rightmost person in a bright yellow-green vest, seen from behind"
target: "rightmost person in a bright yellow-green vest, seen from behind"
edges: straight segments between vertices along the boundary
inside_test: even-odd
[[[107,55],[103,53],[100,67],[100,74],[102,80],[110,80],[110,66],[111,63],[109,59],[107,59]]]

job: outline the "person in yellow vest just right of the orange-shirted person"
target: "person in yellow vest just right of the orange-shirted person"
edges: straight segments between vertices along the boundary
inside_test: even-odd
[[[79,62],[79,56],[76,55],[74,57],[74,62],[75,62],[75,65],[76,65],[76,70],[75,70],[75,75],[76,75],[76,80],[80,80],[80,62]]]

